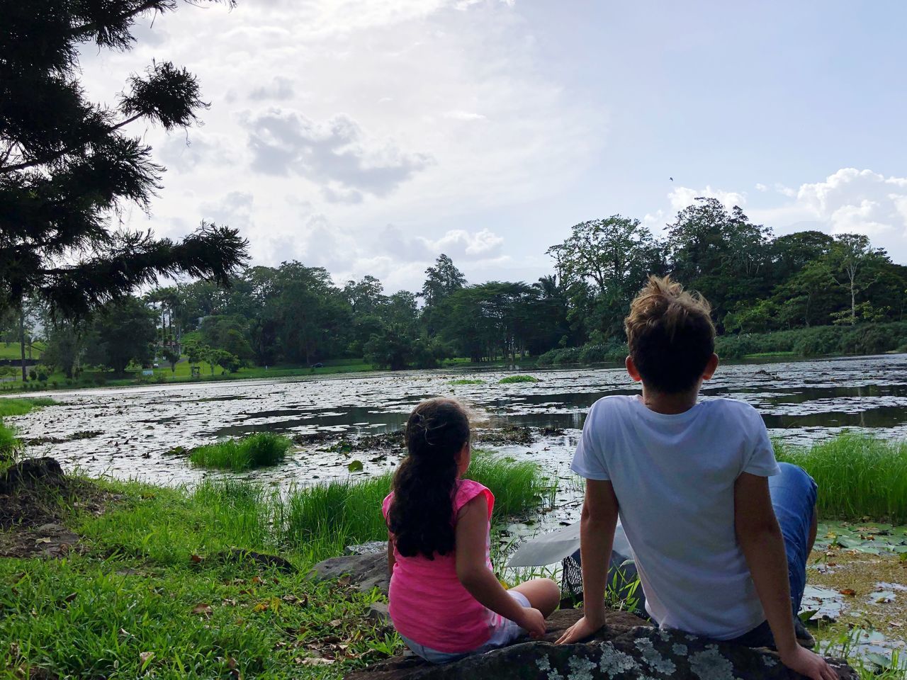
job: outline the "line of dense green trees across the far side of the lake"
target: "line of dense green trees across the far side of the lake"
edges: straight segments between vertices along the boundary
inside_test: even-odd
[[[907,267],[869,239],[801,231],[774,238],[739,208],[697,199],[663,238],[638,219],[582,222],[548,249],[554,271],[531,284],[469,283],[450,257],[417,293],[387,294],[366,276],[337,286],[297,261],[246,267],[228,286],[196,280],[122,296],[83,319],[44,316],[44,362],[67,374],[101,364],[122,373],[188,355],[224,371],[364,357],[393,370],[537,356],[580,345],[619,347],[623,317],[649,274],[671,274],[710,301],[721,335],[903,318]]]

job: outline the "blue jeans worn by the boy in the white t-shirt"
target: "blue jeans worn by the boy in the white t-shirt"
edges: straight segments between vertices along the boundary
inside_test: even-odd
[[[806,471],[789,462],[778,463],[781,474],[768,478],[775,517],[785,537],[787,578],[791,588],[791,611],[800,611],[806,589],[806,560],[809,559],[809,534],[813,525],[817,487]],[[775,646],[767,622],[728,642],[746,646]]]

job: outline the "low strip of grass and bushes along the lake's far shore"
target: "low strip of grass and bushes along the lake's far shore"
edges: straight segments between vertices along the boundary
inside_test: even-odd
[[[822,325],[795,328],[770,333],[743,333],[718,335],[715,349],[722,359],[730,361],[758,361],[778,359],[798,361],[823,357],[881,355],[907,352],[907,322],[873,323],[860,325]],[[587,344],[580,347],[552,349],[538,356],[522,356],[516,363],[510,361],[474,363],[467,358],[446,359],[438,368],[444,370],[523,370],[538,368],[569,368],[600,364],[622,364],[627,356],[627,345],[619,342]],[[218,366],[197,364],[200,372],[191,374],[191,364],[183,357],[173,369],[156,368],[151,375],[134,369],[125,377],[114,377],[109,371],[84,371],[77,379],[67,379],[63,374],[43,374],[44,380],[0,383],[0,394],[32,391],[81,390],[92,387],[128,387],[148,384],[204,383],[225,380],[267,380],[277,378],[317,378],[353,373],[372,373],[385,369],[366,363],[365,359],[337,359],[313,366],[255,366],[244,367],[229,373]],[[424,369],[407,368],[395,373]],[[532,382],[522,375],[503,378],[506,383]],[[472,379],[454,380],[452,384],[473,384]]]

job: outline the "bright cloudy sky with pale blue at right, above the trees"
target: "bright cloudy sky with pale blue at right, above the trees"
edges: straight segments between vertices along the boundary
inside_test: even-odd
[[[239,0],[83,46],[114,104],[152,60],[210,109],[131,134],[167,167],[127,228],[239,228],[252,264],[418,290],[532,282],[545,250],[622,214],[661,234],[697,196],[775,235],[859,232],[907,264],[907,3]]]

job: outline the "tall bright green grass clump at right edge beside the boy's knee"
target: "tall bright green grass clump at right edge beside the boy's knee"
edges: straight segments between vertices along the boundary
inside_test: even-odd
[[[810,448],[775,442],[775,456],[813,477],[821,517],[907,523],[907,442],[844,432]]]

